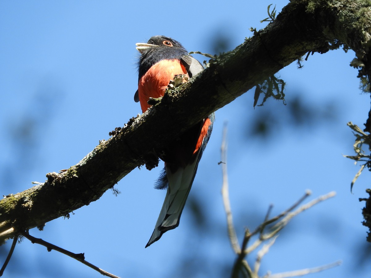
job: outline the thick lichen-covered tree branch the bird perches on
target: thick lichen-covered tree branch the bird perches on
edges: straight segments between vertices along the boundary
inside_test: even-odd
[[[265,29],[131,119],[81,162],[2,199],[0,243],[98,200],[138,166],[157,166],[167,143],[305,53],[325,53],[340,41],[356,52],[354,65],[364,67],[371,33],[371,12],[365,5],[361,0],[293,0]]]

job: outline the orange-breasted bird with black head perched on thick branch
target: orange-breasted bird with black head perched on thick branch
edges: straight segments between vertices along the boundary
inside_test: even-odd
[[[137,43],[138,90],[135,102],[140,102],[142,112],[151,105],[150,98],[164,96],[167,85],[175,75],[193,77],[204,67],[190,56],[176,40],[166,36],[153,36],[147,43]],[[164,169],[155,185],[156,189],[167,189],[160,215],[146,248],[161,236],[179,225],[180,216],[187,201],[198,162],[209,141],[213,129],[214,113],[175,138],[163,150],[161,159]]]

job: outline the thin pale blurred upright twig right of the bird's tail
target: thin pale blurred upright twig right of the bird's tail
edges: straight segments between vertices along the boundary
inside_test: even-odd
[[[221,142],[221,170],[223,173],[223,185],[221,187],[221,195],[223,196],[224,210],[226,211],[227,216],[227,227],[228,227],[228,236],[231,242],[232,248],[236,254],[241,254],[241,248],[238,243],[236,230],[233,226],[232,219],[232,210],[229,201],[228,193],[228,173],[227,173],[227,125],[224,124],[223,129],[223,140]]]

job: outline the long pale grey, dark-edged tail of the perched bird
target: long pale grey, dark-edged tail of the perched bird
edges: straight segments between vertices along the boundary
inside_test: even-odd
[[[165,165],[169,185],[155,229],[145,247],[158,241],[164,232],[175,229],[179,225],[180,215],[196,175],[198,161],[199,157],[197,155],[193,163],[185,166],[185,168],[178,168],[174,173],[171,173],[171,170]]]

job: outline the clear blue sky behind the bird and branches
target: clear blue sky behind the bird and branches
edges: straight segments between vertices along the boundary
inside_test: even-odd
[[[32,181],[45,181],[48,172],[75,165],[99,140],[107,140],[109,131],[140,112],[133,100],[138,80],[135,43],[162,34],[188,51],[212,53],[213,38],[226,36],[233,49],[252,36],[250,27],[265,26],[259,21],[272,3],[280,11],[288,1],[0,1],[1,195],[21,192]],[[370,277],[370,264],[359,265],[367,229],[361,226],[364,203],[358,202],[370,187],[370,174],[361,175],[351,194],[350,182],[359,166],[342,157],[353,152],[354,136],[346,123],[362,126],[370,107],[370,96],[358,89],[357,70],[349,66],[353,58],[351,51],[315,53],[303,69],[295,64],[283,69],[287,106],[269,100],[253,109],[253,92],[247,92],[216,112],[189,197],[201,201],[207,236],[193,228],[186,205],[180,226],[144,248],[165,195],[153,189],[162,167],[135,169],[116,186],[122,192],[118,197],[108,191],[70,219],[55,219],[44,231],[33,229],[30,234],[85,252],[87,261],[121,277],[176,277],[198,258],[206,263],[202,261],[195,277],[223,277],[218,267],[235,259],[217,164],[223,123],[228,121],[230,198],[240,240],[244,227],[254,228],[270,203],[277,214],[306,189],[312,190],[311,198],[337,192],[334,199],[293,220],[263,259],[261,275],[341,259],[340,267],[308,277]],[[289,128],[289,120],[277,119],[280,128],[273,136],[246,135],[262,115],[283,115],[297,96],[318,111],[333,105],[334,119],[295,128]],[[9,247],[10,242],[0,247],[1,264]],[[101,275],[24,240],[4,277]]]

